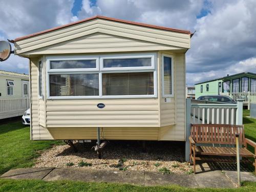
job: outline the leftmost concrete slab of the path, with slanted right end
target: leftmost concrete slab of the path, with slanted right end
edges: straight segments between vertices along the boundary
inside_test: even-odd
[[[0,178],[7,179],[43,179],[54,167],[16,168],[4,173]]]

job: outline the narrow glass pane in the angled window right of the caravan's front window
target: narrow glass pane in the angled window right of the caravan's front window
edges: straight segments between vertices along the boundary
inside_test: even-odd
[[[163,57],[164,95],[172,94],[172,58]]]

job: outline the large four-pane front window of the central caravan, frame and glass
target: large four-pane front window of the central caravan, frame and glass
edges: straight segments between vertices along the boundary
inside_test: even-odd
[[[155,53],[47,57],[48,98],[156,97]]]

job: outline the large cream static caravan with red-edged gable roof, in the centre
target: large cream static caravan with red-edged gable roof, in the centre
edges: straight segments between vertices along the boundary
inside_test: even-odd
[[[104,16],[16,38],[30,58],[31,139],[185,141],[191,33]]]

